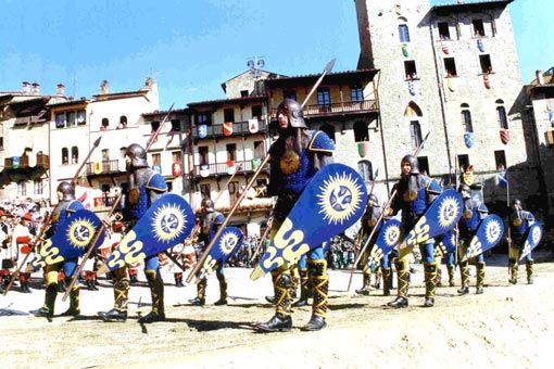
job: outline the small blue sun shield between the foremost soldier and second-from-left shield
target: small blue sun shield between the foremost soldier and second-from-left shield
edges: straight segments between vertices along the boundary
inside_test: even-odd
[[[242,244],[242,232],[237,227],[225,227],[222,234],[217,238],[214,243],[214,247],[210,251],[207,258],[199,271],[199,279],[211,275],[217,263],[226,263],[240,249]]]

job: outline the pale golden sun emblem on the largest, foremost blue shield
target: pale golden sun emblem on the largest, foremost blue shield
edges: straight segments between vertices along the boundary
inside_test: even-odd
[[[338,174],[324,181],[317,205],[329,224],[343,224],[363,204],[362,186],[349,174]]]

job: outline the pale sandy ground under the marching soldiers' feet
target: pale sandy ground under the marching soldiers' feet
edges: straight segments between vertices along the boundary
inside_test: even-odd
[[[211,276],[203,307],[188,304],[196,285],[176,288],[165,271],[167,320],[147,326],[137,322],[150,311],[146,283],[131,288],[126,322],[97,317],[113,304],[105,279],[100,280],[100,291],[81,287],[78,317],[58,316],[49,322],[30,316],[26,313],[43,300],[37,273],[33,293],[14,288],[0,296],[0,368],[552,368],[554,263],[546,252],[534,257],[534,284],[526,283],[522,266],[519,283],[509,284],[506,256],[494,255],[487,260],[484,294],[476,295],[471,288],[470,294],[458,296],[458,287],[443,287],[433,308],[421,307],[420,265],[415,265],[405,309],[387,308],[392,297],[380,291],[355,294],[362,284],[360,272],[347,292],[350,272],[330,270],[328,327],[301,331],[311,316],[311,308],[302,307],[294,309],[294,327],[287,333],[254,332],[253,326],[268,320],[274,308],[264,300],[273,293],[270,278],[251,281],[251,269],[226,269],[228,306],[213,305],[218,288]],[[60,294],[56,315],[68,306],[68,300],[61,298]]]

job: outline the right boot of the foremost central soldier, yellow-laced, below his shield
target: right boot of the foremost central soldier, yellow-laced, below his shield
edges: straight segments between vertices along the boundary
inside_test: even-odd
[[[313,285],[314,302],[312,304],[312,318],[302,328],[304,331],[318,331],[327,327],[329,276],[327,276],[327,260],[307,260],[307,273]]]

